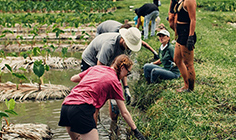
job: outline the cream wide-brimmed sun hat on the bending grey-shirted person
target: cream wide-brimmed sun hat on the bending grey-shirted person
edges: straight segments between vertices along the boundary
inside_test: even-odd
[[[131,51],[137,52],[141,49],[142,39],[141,32],[136,27],[129,29],[121,28],[119,30],[121,37],[125,40],[126,45]]]

